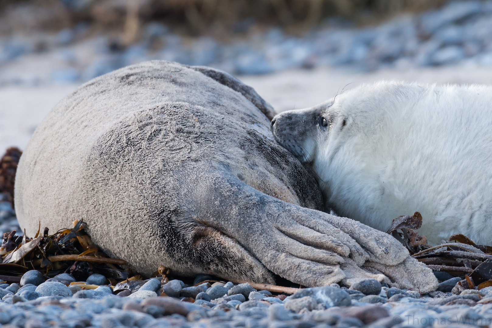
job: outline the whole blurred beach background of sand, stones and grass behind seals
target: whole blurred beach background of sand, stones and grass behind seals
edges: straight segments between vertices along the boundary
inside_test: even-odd
[[[239,75],[277,111],[376,79],[492,82],[492,0],[0,1],[3,149],[76,86],[144,60]]]

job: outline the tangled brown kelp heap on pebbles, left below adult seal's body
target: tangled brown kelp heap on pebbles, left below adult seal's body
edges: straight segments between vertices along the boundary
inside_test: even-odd
[[[34,238],[15,236],[15,231],[4,234],[0,279],[15,281],[26,271],[36,269],[47,277],[70,273],[78,280],[85,280],[92,273],[108,278],[126,279],[133,275],[122,266],[125,261],[109,258],[90,239],[82,221],[74,221],[72,229],[64,229],[53,235],[45,228]]]

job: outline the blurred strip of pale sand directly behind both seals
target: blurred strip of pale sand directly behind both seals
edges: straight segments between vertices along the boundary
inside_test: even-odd
[[[492,84],[492,68],[442,67],[416,70],[380,70],[357,73],[318,68],[271,75],[240,77],[270,102],[277,112],[313,106],[343,89],[378,80],[419,83]],[[0,87],[0,152],[10,146],[24,149],[32,132],[50,109],[78,85]]]

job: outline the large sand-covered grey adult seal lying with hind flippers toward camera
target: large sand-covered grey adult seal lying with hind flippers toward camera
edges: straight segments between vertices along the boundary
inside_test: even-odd
[[[233,281],[369,276],[434,289],[396,239],[321,211],[316,181],[271,135],[273,114],[207,67],[149,61],[98,77],[34,132],[17,170],[19,222],[32,235],[38,221],[57,230],[83,219],[106,253],[147,275],[164,265]]]

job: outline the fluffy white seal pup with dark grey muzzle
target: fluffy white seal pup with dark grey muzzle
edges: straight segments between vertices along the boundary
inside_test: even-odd
[[[433,244],[492,243],[492,87],[361,85],[272,127],[338,215],[386,231],[419,211]]]

